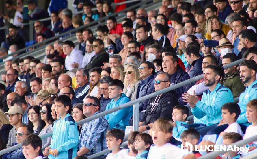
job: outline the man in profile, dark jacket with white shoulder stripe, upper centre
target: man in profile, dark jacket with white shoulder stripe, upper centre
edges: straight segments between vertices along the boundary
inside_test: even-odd
[[[152,35],[155,40],[158,40],[161,43],[161,46],[164,48],[170,46],[170,40],[164,34],[164,27],[161,24],[155,24],[152,29]]]

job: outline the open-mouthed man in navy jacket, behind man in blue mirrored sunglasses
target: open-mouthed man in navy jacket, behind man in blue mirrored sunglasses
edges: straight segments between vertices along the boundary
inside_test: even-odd
[[[178,65],[178,56],[175,53],[165,53],[163,57],[162,68],[163,72],[168,73],[171,77],[171,84],[177,84],[189,79],[189,75]],[[185,104],[182,99],[182,94],[191,88],[192,83],[175,89],[179,104]]]

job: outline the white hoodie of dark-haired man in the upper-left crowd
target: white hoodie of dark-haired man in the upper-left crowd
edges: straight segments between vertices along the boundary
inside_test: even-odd
[[[67,70],[72,70],[74,67],[71,66],[73,62],[76,62],[81,66],[83,60],[82,51],[78,50],[76,47],[71,51],[70,55],[65,58],[65,67]]]

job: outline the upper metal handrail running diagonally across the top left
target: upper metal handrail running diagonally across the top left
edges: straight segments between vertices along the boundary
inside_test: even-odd
[[[140,5],[142,5],[142,4],[145,4],[145,3],[151,2],[151,1],[152,1],[152,0],[146,0],[146,1],[143,1],[143,2],[140,2],[140,3],[137,3],[137,4],[133,5],[133,6],[130,6],[130,7],[125,8],[124,10],[121,10],[121,11],[115,12],[115,13],[112,13],[112,14],[110,14],[109,16],[116,16],[116,15],[122,13],[122,12],[126,12],[127,10],[130,10],[130,9],[132,9],[132,8],[135,8],[135,7],[137,7],[137,6],[140,6]],[[154,1],[154,2],[152,2],[150,5],[154,5],[154,4],[157,4],[157,3],[159,3],[159,2],[161,2],[161,0]],[[107,18],[107,17],[100,18],[100,19],[98,19],[97,21],[92,21],[92,22],[90,22],[89,24],[82,25],[82,26],[80,26],[80,27],[77,27],[77,28],[74,28],[74,29],[69,30],[69,31],[67,31],[67,32],[64,32],[64,33],[62,33],[62,34],[59,34],[58,36],[54,36],[54,37],[48,38],[48,39],[46,39],[46,40],[44,40],[44,41],[42,41],[42,42],[39,42],[39,43],[30,45],[30,46],[28,46],[28,47],[25,47],[25,48],[23,48],[23,49],[20,49],[20,50],[14,52],[14,53],[5,55],[5,56],[3,56],[3,57],[0,57],[0,60],[5,59],[5,58],[7,58],[7,57],[9,57],[9,56],[15,55],[15,54],[17,54],[17,53],[21,53],[21,52],[23,52],[23,51],[26,51],[26,50],[29,49],[29,48],[36,47],[36,46],[39,46],[39,45],[43,45],[44,43],[47,43],[47,42],[56,40],[57,38],[59,38],[59,37],[61,37],[61,36],[63,36],[63,35],[66,35],[66,34],[69,34],[69,33],[72,33],[72,32],[76,32],[76,31],[79,30],[79,29],[84,29],[84,28],[86,28],[86,27],[88,27],[88,26],[90,26],[90,25],[97,24],[97,23],[100,22],[100,21],[105,21],[106,18]],[[98,24],[98,25],[102,25],[102,24],[105,24],[105,22],[100,23],[100,24]],[[95,26],[94,26],[94,27],[95,27]],[[66,38],[67,38],[67,37],[66,37]],[[44,46],[42,46],[42,47],[44,47]],[[40,47],[40,48],[41,48],[41,47]]]

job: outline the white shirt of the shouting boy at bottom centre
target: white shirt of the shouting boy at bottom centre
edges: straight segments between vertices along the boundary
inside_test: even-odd
[[[171,143],[165,143],[161,147],[157,147],[156,145],[152,145],[148,152],[148,159],[179,159],[183,158],[185,155],[185,151],[181,151],[180,148],[172,145]]]

